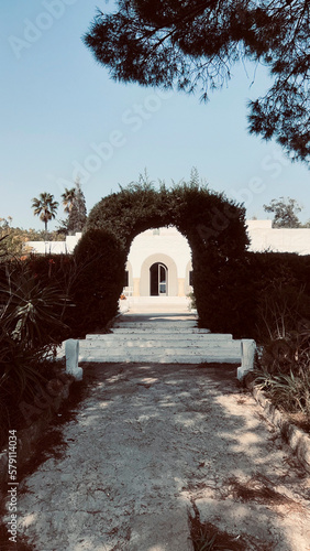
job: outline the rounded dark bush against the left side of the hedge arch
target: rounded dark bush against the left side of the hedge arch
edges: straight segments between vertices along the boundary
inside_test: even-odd
[[[113,235],[86,231],[75,249],[78,276],[73,289],[75,325],[80,335],[104,329],[118,313],[126,255]]]

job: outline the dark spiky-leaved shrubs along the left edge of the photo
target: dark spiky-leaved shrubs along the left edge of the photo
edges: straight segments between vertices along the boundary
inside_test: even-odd
[[[67,304],[48,273],[41,280],[29,261],[0,264],[0,445],[7,429],[20,425],[20,401],[32,404],[53,371],[51,355],[68,332]]]

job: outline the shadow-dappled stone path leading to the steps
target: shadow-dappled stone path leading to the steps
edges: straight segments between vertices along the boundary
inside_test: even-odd
[[[85,364],[67,447],[25,479],[37,551],[187,551],[192,505],[247,549],[310,550],[310,485],[235,369]]]

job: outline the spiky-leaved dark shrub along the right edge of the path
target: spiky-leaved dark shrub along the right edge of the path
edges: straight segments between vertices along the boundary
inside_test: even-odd
[[[257,358],[255,385],[275,406],[302,413],[310,429],[310,295],[297,287],[263,294],[262,323],[267,333]]]

